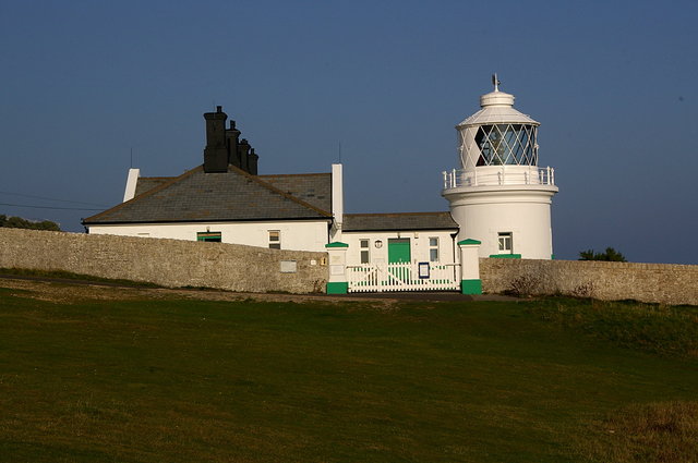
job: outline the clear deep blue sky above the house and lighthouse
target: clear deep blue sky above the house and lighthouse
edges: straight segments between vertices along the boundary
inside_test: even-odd
[[[698,4],[0,0],[0,214],[81,231],[202,162],[221,105],[261,173],[327,172],[350,212],[446,210],[454,125],[497,72],[541,122],[559,258],[698,264]],[[62,199],[61,202],[44,198]]]

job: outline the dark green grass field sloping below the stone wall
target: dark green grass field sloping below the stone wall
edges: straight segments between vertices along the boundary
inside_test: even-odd
[[[2,285],[1,462],[698,461],[695,307]]]

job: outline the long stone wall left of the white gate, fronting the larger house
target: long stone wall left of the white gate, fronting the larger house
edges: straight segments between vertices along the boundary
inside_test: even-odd
[[[296,272],[282,272],[292,269]],[[239,244],[0,228],[0,267],[65,270],[164,287],[324,292],[327,254]]]

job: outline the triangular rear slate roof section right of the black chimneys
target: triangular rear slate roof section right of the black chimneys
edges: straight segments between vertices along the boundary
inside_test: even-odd
[[[290,173],[257,178],[318,209],[332,211],[332,173]]]

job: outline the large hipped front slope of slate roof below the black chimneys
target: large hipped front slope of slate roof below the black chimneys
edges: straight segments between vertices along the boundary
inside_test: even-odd
[[[146,178],[147,179],[147,178]],[[153,179],[153,178],[151,178]],[[203,166],[157,182],[133,199],[83,220],[84,224],[332,218],[330,212],[297,198],[236,167],[205,173]],[[148,180],[143,183],[145,187]]]

